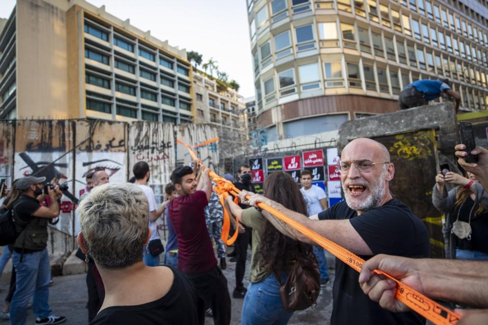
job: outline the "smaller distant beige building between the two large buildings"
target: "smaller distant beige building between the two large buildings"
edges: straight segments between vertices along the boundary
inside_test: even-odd
[[[195,122],[210,123],[219,129],[222,157],[238,152],[247,144],[247,113],[242,96],[224,82],[203,73],[193,73]]]

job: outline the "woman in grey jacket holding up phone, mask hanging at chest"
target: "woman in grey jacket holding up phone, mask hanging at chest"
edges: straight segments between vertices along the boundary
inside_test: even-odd
[[[442,227],[446,258],[488,261],[488,193],[474,174],[467,176],[439,171],[432,203],[446,215]],[[456,187],[447,192],[446,183]]]

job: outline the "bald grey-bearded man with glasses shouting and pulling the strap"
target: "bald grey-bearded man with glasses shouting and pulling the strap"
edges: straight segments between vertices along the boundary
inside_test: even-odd
[[[337,168],[341,172],[346,200],[310,219],[251,192],[243,191],[239,199],[253,206],[259,202],[270,205],[364,259],[381,253],[429,256],[425,225],[390,193],[388,184],[393,179],[394,166],[385,146],[371,139],[355,139],[343,149]],[[268,212],[263,211],[263,215],[283,234],[313,243]],[[395,314],[371,301],[357,283],[359,274],[339,259],[336,259],[335,270],[331,324],[425,323],[425,319],[414,312]]]

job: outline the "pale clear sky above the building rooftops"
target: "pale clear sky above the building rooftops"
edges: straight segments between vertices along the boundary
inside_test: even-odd
[[[0,0],[0,17],[8,18],[15,0]],[[115,17],[171,46],[186,48],[218,62],[239,85],[244,97],[254,96],[246,0],[88,0]]]

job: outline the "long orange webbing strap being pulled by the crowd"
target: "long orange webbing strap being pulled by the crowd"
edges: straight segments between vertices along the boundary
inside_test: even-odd
[[[186,146],[188,150],[190,151],[190,154],[192,157],[197,160],[196,154],[193,152],[190,146],[185,144],[184,142],[180,140],[176,140],[178,143]],[[201,163],[200,165],[205,168]],[[224,228],[225,225],[227,224],[227,228],[230,227],[230,217],[225,209],[224,205],[224,199],[229,195],[228,192],[232,193],[234,196],[238,193],[240,193],[240,190],[232,184],[232,182],[220,177],[213,171],[208,172],[208,176],[214,180],[217,183],[217,186],[214,187],[217,193],[220,194],[220,202],[222,203],[222,206],[224,207],[224,225],[223,225],[223,231],[222,231],[222,239],[224,240]],[[249,196],[247,196],[249,198]],[[234,200],[235,202],[235,200]],[[346,263],[349,265],[351,268],[356,270],[357,272],[361,272],[361,265],[364,263],[364,259],[361,257],[357,256],[356,254],[353,254],[349,250],[343,248],[342,246],[326,239],[322,235],[319,235],[315,231],[311,230],[307,226],[304,226],[303,224],[299,223],[298,221],[290,218],[286,214],[284,214],[281,211],[278,211],[267,204],[264,204],[262,202],[259,202],[258,207],[261,209],[269,212],[273,216],[277,217],[278,219],[282,220],[286,224],[290,225],[292,228],[296,229],[303,235],[307,236],[309,239],[313,240],[326,250],[328,250],[332,255],[335,257],[339,258],[342,262]],[[238,222],[238,221],[237,221]],[[236,228],[236,231],[232,238],[228,239],[229,235],[229,229],[227,229],[227,233],[225,234],[225,241],[224,242],[234,242],[235,239],[237,238],[237,230],[238,226]],[[459,319],[461,319],[461,316],[454,313],[453,311],[441,306],[440,304],[436,303],[432,299],[420,294],[418,291],[412,289],[408,285],[405,285],[404,283],[400,282],[399,280],[396,280],[392,276],[386,274],[383,271],[380,270],[375,270],[374,271],[377,274],[382,274],[385,277],[393,280],[396,282],[396,295],[395,298],[407,305],[410,309],[414,310],[418,314],[422,315],[423,317],[429,319],[436,325],[451,325],[457,323]],[[358,284],[359,285],[359,284]]]

